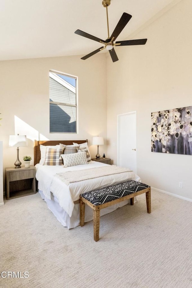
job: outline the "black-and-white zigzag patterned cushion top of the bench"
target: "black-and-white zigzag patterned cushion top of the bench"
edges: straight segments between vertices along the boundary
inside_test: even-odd
[[[111,202],[118,198],[133,194],[135,192],[149,188],[149,185],[140,183],[134,180],[118,183],[113,186],[104,187],[94,191],[86,192],[81,196],[87,199],[90,203],[95,206]]]

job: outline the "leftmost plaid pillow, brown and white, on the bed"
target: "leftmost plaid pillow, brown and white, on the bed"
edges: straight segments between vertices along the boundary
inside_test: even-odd
[[[46,148],[44,165],[62,165],[63,161],[61,154],[63,153],[63,149],[64,148]]]

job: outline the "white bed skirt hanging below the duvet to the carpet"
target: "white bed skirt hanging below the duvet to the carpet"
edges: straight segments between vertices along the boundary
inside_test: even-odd
[[[75,228],[79,226],[79,204],[75,204],[73,208],[73,213],[71,217],[67,214],[67,212],[64,211],[63,208],[58,203],[58,200],[53,194],[51,193],[51,200],[47,199],[42,191],[39,190],[39,193],[47,203],[48,208],[52,211],[52,213],[55,215],[57,220],[68,229]],[[135,197],[135,202],[137,201]],[[107,213],[113,212],[117,208],[120,208],[126,204],[130,203],[130,200],[125,200],[123,202],[120,202],[118,204],[112,205],[110,207],[104,208],[100,211],[100,215],[103,216]],[[88,205],[85,205],[85,222],[93,220],[93,209],[91,209]]]

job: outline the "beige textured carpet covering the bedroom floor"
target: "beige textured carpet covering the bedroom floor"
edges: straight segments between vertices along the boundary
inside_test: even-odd
[[[67,230],[35,195],[5,200],[0,207],[1,271],[29,272],[1,278],[2,288],[190,288],[192,203],[152,192],[101,217]],[[4,275],[4,274],[3,274]]]

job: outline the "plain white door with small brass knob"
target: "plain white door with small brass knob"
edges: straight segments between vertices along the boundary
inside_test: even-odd
[[[137,174],[137,112],[118,115],[117,165]]]

